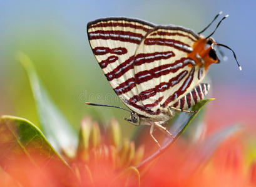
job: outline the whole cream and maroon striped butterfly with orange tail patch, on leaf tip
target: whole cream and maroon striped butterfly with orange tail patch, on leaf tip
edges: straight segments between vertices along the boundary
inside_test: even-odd
[[[133,125],[150,125],[150,135],[158,146],[154,127],[172,136],[163,126],[165,122],[175,112],[193,112],[188,108],[202,100],[210,89],[209,84],[201,82],[210,65],[220,62],[215,46],[230,49],[218,44],[212,34],[204,37],[201,32],[182,26],[161,26],[126,17],[91,21],[87,32],[106,79],[131,110],[130,118],[125,120]]]

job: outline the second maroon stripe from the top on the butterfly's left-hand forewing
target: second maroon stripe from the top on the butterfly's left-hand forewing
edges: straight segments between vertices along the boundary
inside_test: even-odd
[[[135,44],[140,44],[143,38],[142,34],[138,34],[130,31],[94,31],[88,32],[90,40],[103,39],[103,40],[114,40],[122,42],[131,42]]]

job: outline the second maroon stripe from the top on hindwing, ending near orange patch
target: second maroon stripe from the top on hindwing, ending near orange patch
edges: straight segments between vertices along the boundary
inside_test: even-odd
[[[170,46],[178,50],[182,50],[184,52],[190,53],[193,51],[193,48],[188,46],[187,44],[173,40],[173,39],[165,39],[165,38],[147,38],[144,41],[146,46],[149,45],[159,45],[159,46]]]

